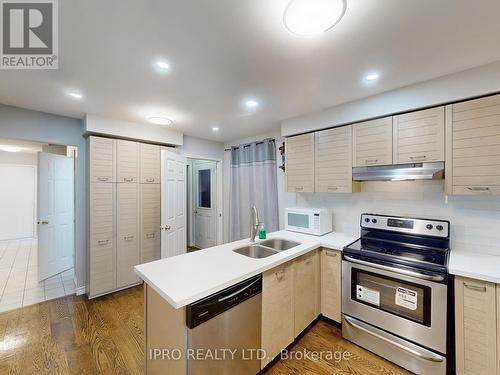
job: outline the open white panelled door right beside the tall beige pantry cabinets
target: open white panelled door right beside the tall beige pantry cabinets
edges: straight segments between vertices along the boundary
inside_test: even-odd
[[[183,254],[186,234],[186,158],[161,151],[161,257]]]

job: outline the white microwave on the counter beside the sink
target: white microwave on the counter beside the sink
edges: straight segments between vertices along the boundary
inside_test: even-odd
[[[285,229],[322,236],[333,230],[332,216],[332,211],[326,208],[286,208]]]

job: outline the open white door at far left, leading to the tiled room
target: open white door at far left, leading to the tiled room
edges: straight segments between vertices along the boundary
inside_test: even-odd
[[[38,279],[74,266],[73,158],[38,153]]]

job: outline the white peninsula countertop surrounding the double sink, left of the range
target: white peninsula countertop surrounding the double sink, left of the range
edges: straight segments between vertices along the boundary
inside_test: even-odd
[[[184,307],[249,277],[279,266],[311,250],[326,247],[342,250],[356,236],[328,233],[324,236],[279,231],[270,238],[283,238],[301,245],[267,258],[253,259],[232,250],[248,239],[135,266],[135,272],[174,308]]]

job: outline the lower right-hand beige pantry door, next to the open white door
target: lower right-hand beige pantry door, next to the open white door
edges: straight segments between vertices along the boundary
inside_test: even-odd
[[[141,184],[141,263],[160,259],[160,184]]]

